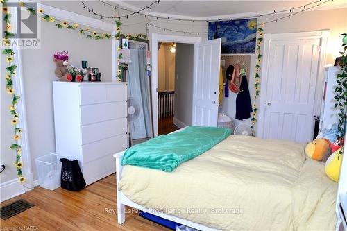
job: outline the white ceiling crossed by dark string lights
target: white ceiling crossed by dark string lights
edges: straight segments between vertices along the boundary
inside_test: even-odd
[[[36,0],[39,1],[39,0]],[[153,1],[117,1],[117,0],[101,0],[111,3],[115,6],[121,6],[128,10],[137,11],[141,8],[149,6]],[[99,12],[102,15],[125,15],[128,12],[121,10],[115,10],[112,6],[104,6],[100,0],[83,0],[83,2],[94,12]],[[245,15],[264,14],[265,12],[273,12],[273,10],[287,10],[297,6],[303,6],[313,1],[300,1],[300,0],[281,0],[281,1],[165,1],[161,0],[159,4],[154,4],[151,9],[146,9],[145,13],[151,15],[164,15],[164,17],[178,17],[178,18],[189,18],[189,19],[219,19],[222,15],[226,17],[244,17]],[[324,0],[322,0],[324,1]],[[41,0],[45,5],[60,8],[62,10],[68,10],[70,12],[76,12],[80,15],[94,17],[100,19],[100,17],[93,15],[88,12],[86,8],[83,8],[81,1],[51,1]],[[325,3],[315,9],[323,8],[347,8],[347,0],[335,0]],[[227,16],[228,15],[228,16]],[[226,18],[225,17],[225,18]],[[131,20],[130,20],[131,19]],[[114,19],[103,19],[105,22],[114,22]],[[144,22],[143,16],[136,15],[130,17],[130,21],[127,24],[137,24]]]

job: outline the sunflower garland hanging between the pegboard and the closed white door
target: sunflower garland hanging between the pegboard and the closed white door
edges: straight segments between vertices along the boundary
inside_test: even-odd
[[[262,62],[262,54],[260,53],[260,45],[263,41],[263,35],[264,35],[264,29],[262,28],[263,24],[257,29],[257,45],[255,46],[255,51],[257,55],[257,63],[255,65],[255,75],[254,75],[254,88],[255,88],[255,95],[253,97],[253,114],[251,118],[252,128],[255,126],[255,123],[257,123],[257,97],[260,94],[260,70],[262,67],[260,66]]]

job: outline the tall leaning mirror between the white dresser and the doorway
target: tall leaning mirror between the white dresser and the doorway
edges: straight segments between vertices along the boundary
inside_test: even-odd
[[[121,35],[119,44],[126,42],[123,81],[128,82],[128,134],[133,146],[153,138],[151,75],[147,71],[149,41]],[[124,47],[124,46],[123,46]]]

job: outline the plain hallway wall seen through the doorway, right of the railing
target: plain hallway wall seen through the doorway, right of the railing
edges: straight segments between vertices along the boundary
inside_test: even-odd
[[[192,124],[194,45],[176,44],[174,122]],[[178,125],[178,127],[180,127]]]

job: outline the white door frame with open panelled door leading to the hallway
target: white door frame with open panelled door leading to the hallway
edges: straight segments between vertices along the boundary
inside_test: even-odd
[[[193,64],[184,67],[192,68],[192,107],[185,111],[192,112],[192,125],[217,126],[218,89],[221,55],[221,39],[203,40],[202,37],[185,37],[176,35],[152,34],[152,109],[153,128],[158,136],[158,44],[159,42],[175,42],[193,45]],[[177,54],[176,54],[177,56]],[[185,78],[188,80],[190,78]],[[176,94],[178,96],[179,94]],[[187,100],[186,100],[187,101]]]

